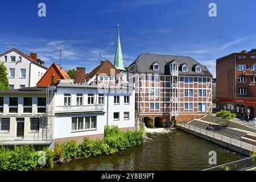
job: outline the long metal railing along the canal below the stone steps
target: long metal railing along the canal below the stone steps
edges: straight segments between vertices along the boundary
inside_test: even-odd
[[[226,142],[234,146],[256,152],[256,146],[254,144],[243,142],[242,140],[228,137],[226,135],[218,134],[218,133],[215,133],[214,131],[210,131],[207,129],[201,129],[201,127],[189,125],[188,123],[184,123],[184,122],[176,122],[176,125],[180,127],[184,127],[185,129],[189,129],[191,131],[195,131],[196,133],[206,135],[207,137],[212,137],[214,139],[221,140],[222,142]]]

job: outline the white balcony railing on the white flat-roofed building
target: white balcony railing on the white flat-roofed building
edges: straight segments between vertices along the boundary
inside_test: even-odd
[[[86,111],[103,111],[103,105],[55,106],[55,113],[76,113]]]

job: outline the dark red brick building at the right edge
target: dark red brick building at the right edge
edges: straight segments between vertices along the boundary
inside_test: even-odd
[[[256,49],[217,59],[216,78],[217,106],[256,115]]]

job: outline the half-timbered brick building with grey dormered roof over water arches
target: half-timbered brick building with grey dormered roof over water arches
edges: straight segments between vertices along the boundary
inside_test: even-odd
[[[191,57],[142,53],[129,66],[137,118],[148,126],[190,121],[212,112],[212,74]]]

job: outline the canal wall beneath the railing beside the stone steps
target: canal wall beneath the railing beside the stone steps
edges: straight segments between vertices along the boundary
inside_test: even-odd
[[[216,139],[214,137],[210,137],[207,134],[205,135],[205,134],[199,133],[197,131],[193,131],[191,129],[187,129],[187,128],[179,126],[179,125],[176,125],[176,127],[179,130],[182,130],[182,131],[185,131],[185,132],[190,133],[192,135],[195,135],[197,137],[203,138],[205,140],[208,140],[209,142],[216,143],[216,144],[218,144],[218,145],[220,145],[222,147],[229,148],[230,150],[239,152],[240,154],[243,154],[243,155],[246,155],[246,156],[250,156],[251,155],[251,151],[246,149],[246,148],[242,148],[240,146],[236,146],[236,145],[234,145],[232,143],[228,143],[228,142],[222,141],[220,139]]]

